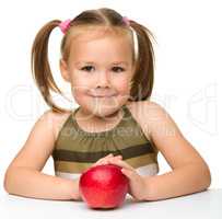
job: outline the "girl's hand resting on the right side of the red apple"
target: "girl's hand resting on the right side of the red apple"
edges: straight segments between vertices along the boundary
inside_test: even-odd
[[[106,161],[122,168],[121,172],[129,178],[129,194],[136,200],[145,200],[147,184],[144,177],[139,175],[131,165],[121,159],[109,157]]]

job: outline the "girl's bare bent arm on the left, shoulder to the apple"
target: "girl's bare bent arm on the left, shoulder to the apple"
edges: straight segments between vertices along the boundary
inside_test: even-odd
[[[9,194],[43,199],[81,199],[79,180],[42,173],[54,150],[56,113],[46,112],[34,125],[24,147],[9,165],[4,189]]]

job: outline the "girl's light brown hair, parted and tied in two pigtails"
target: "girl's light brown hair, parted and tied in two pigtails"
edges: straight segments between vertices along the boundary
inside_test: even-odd
[[[57,106],[50,95],[50,91],[62,95],[61,90],[57,87],[48,61],[48,41],[50,33],[61,23],[60,20],[54,20],[46,23],[37,33],[33,46],[31,66],[34,80],[46,103],[54,112],[63,113],[67,110]],[[154,51],[151,38],[153,34],[143,25],[136,21],[129,21],[129,26],[124,18],[115,10],[102,8],[97,10],[86,10],[77,15],[70,22],[69,30],[63,35],[60,50],[65,60],[69,59],[71,35],[79,26],[104,26],[108,28],[135,31],[133,37],[137,37],[138,54],[135,60],[135,76],[130,90],[129,101],[143,101],[151,96],[154,81]],[[133,38],[132,37],[132,38]],[[133,49],[135,53],[135,49]]]

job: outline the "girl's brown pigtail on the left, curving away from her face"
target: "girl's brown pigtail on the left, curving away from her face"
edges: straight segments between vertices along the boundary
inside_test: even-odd
[[[33,46],[31,67],[33,78],[44,97],[46,103],[51,107],[54,112],[63,113],[66,110],[58,107],[50,95],[50,91],[59,93],[62,92],[57,87],[54,77],[51,74],[49,61],[48,61],[48,41],[50,33],[55,27],[60,24],[59,20],[54,20],[45,24],[37,33]]]

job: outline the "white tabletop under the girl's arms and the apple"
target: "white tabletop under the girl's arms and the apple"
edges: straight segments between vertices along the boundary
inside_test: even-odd
[[[135,203],[128,196],[121,208],[113,210],[93,210],[83,201],[43,200],[4,193],[0,196],[0,216],[2,219],[222,219],[222,189],[145,203]]]

